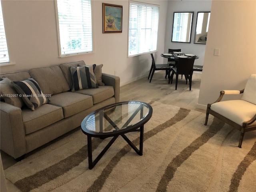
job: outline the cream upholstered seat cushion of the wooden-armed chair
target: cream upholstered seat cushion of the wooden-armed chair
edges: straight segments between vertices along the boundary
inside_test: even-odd
[[[242,126],[256,114],[256,105],[244,100],[228,100],[212,104],[211,110]]]

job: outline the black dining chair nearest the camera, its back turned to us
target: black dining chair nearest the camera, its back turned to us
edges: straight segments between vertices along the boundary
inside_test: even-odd
[[[176,74],[176,82],[175,82],[175,90],[177,90],[178,85],[178,75],[184,75],[186,78],[186,84],[189,81],[189,90],[191,90],[192,85],[192,75],[193,75],[193,66],[194,66],[195,58],[179,58],[178,64],[176,67],[172,67],[172,74],[169,76],[168,83],[172,84],[172,79],[174,74]]]

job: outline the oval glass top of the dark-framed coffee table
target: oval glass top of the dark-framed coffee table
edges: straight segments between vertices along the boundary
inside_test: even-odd
[[[144,102],[127,101],[101,108],[89,114],[82,122],[82,130],[110,133],[138,124],[151,113],[152,107]],[[86,129],[86,130],[85,130]]]

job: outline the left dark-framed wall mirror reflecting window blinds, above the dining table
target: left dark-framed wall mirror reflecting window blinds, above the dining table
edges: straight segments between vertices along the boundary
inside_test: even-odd
[[[190,43],[194,12],[174,12],[172,42]]]

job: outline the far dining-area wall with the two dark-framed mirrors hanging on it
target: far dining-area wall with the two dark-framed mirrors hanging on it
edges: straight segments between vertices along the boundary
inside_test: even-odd
[[[168,12],[166,18],[166,34],[164,50],[168,52],[168,49],[180,49],[184,53],[195,54],[199,56],[195,60],[195,65],[203,65],[205,44],[194,44],[194,36],[196,31],[196,17],[197,12],[211,11],[211,0],[170,0],[168,1]],[[172,24],[174,12],[194,12],[191,43],[172,42]],[[208,43],[208,42],[207,42]],[[166,61],[167,62],[167,59]]]

